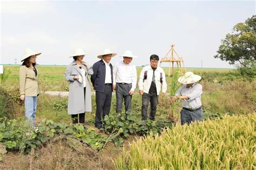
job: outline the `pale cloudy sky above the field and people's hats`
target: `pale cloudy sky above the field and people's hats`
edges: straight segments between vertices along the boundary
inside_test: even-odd
[[[125,50],[149,64],[170,45],[186,67],[233,68],[214,59],[220,40],[233,26],[255,15],[254,1],[2,1],[1,63],[21,63],[25,48],[42,52],[41,65],[68,65],[75,48],[83,48],[91,65],[105,48]],[[165,63],[163,66],[168,66]]]

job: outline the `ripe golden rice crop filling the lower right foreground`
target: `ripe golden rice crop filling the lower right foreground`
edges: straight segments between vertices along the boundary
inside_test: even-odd
[[[133,142],[116,169],[255,169],[256,115],[176,125]]]

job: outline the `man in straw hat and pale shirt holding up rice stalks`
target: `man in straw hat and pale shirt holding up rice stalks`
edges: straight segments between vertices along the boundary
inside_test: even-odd
[[[201,80],[201,76],[192,72],[186,72],[179,77],[178,81],[185,86],[180,87],[175,96],[171,96],[169,103],[183,100],[182,110],[180,111],[181,125],[188,124],[194,121],[202,121],[203,109],[201,108],[201,95],[203,87],[196,83]]]

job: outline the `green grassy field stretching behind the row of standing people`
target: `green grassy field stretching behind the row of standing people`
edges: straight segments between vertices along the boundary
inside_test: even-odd
[[[19,87],[18,69],[19,66],[5,66],[11,70],[9,79],[1,86],[9,91],[16,91]],[[143,67],[137,67],[137,74],[139,79],[140,71]],[[64,80],[64,72],[66,67],[59,66],[38,66],[39,72],[39,89],[41,91],[64,91],[67,90],[69,83]],[[167,74],[169,68],[164,68]],[[246,81],[240,79],[240,76],[232,71],[232,69],[187,69],[193,71],[203,77],[200,83],[203,85],[202,103],[205,109],[205,114],[211,115],[219,112],[220,114],[247,114],[256,110],[255,100],[256,90],[255,81]],[[172,77],[166,76],[167,90],[171,89]],[[11,84],[11,86],[10,86]],[[132,110],[140,116],[142,98],[137,93],[132,98]],[[17,95],[18,96],[18,95]],[[15,96],[15,97],[17,97]],[[64,100],[60,96],[48,96],[44,94],[39,95],[38,99],[38,118],[48,118],[55,122],[70,122],[70,115],[67,114],[66,109],[62,111],[54,110],[52,103]],[[65,97],[65,100],[67,98]],[[181,103],[177,104],[175,115],[179,117]],[[20,113],[16,115],[24,115],[24,107],[18,106],[16,110]],[[123,108],[124,109],[124,108]],[[89,121],[95,119],[96,103],[95,96],[92,96],[92,112],[86,113],[86,118]],[[116,96],[112,97],[111,112],[116,111]],[[159,96],[157,118],[165,119],[166,115],[170,114],[170,104],[168,103],[168,96]]]

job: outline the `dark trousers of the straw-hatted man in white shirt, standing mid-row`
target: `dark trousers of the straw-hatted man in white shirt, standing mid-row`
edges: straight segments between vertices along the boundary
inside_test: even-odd
[[[132,84],[122,84],[122,83],[116,84],[116,97],[117,97],[116,112],[117,113],[122,112],[123,101],[125,105],[125,112],[126,113],[131,112],[132,95],[129,94],[131,88],[132,88]]]

